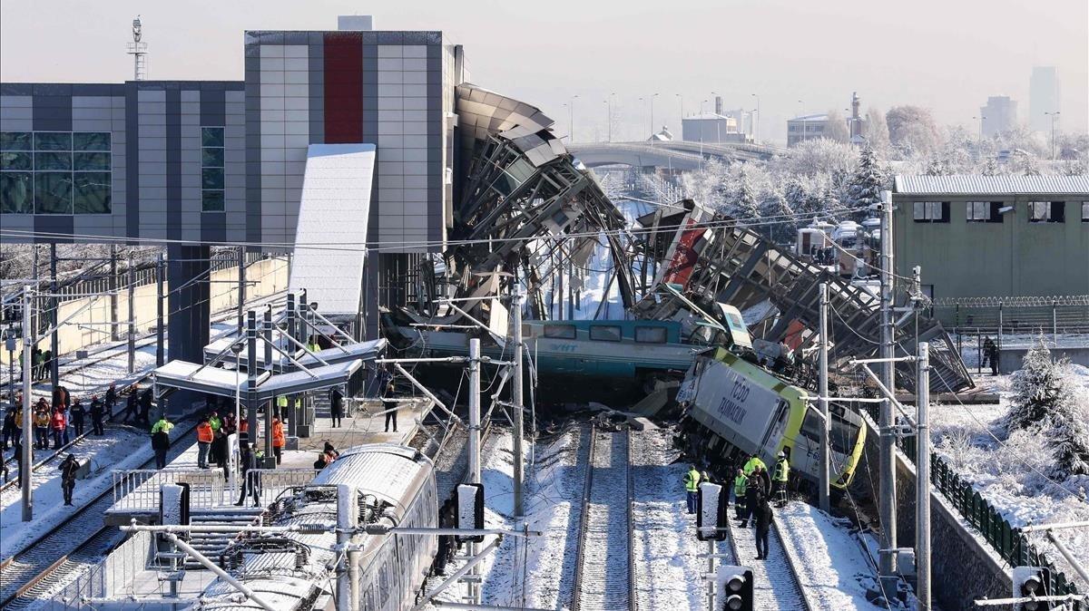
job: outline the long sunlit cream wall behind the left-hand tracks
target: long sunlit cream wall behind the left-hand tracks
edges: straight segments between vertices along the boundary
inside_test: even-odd
[[[222,312],[235,308],[238,303],[238,290],[235,280],[238,277],[237,267],[228,267],[211,273],[211,311]],[[258,299],[286,290],[287,288],[287,262],[283,259],[264,259],[250,264],[246,269],[246,278],[254,284],[246,287],[246,300]],[[163,283],[163,289],[169,294],[169,283]],[[138,286],[134,291],[134,304],[136,311],[136,333],[144,334],[154,329],[158,323],[158,287],[155,283]],[[85,308],[85,309],[84,309]],[[83,311],[79,311],[83,309]],[[164,314],[170,313],[170,300],[164,307]],[[76,314],[76,312],[78,312]],[[96,344],[109,341],[109,325],[101,323],[110,322],[110,299],[100,297],[76,299],[61,303],[58,312],[58,321],[63,321],[75,314],[68,324],[61,326],[58,332],[58,342],[61,354],[75,352],[89,348]],[[122,289],[118,298],[118,319],[129,320],[129,292]],[[122,337],[127,332],[127,327],[120,327]],[[49,337],[42,338],[38,346],[42,350],[49,349]],[[22,348],[20,348],[21,350]],[[15,352],[19,358],[19,351]],[[0,363],[7,365],[8,351],[0,350]]]

